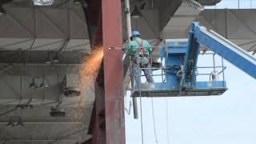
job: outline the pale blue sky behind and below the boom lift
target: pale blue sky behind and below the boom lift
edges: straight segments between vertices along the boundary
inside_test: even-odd
[[[236,0],[224,1],[218,6],[232,7]],[[256,6],[256,1],[252,1]],[[240,0],[240,6],[242,2],[250,0]],[[217,63],[220,65],[219,59]],[[142,98],[144,144],[255,144],[256,79],[229,62],[224,61],[224,65],[229,90],[220,96]],[[198,66],[212,66],[211,58],[200,56]],[[130,100],[127,94],[127,109]],[[158,142],[154,136],[152,102]],[[126,144],[141,144],[140,117],[134,119],[132,108],[125,116]]]

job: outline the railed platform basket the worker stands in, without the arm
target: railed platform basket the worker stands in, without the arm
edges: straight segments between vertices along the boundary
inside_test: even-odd
[[[132,79],[132,96],[133,97],[168,97],[168,96],[205,96],[205,95],[220,95],[226,88],[225,70],[226,66],[223,64],[223,58],[221,58],[221,64],[216,65],[217,58],[215,53],[204,53],[200,55],[212,56],[213,66],[197,66],[198,73],[196,78],[200,80],[197,82],[197,86],[194,90],[185,90],[180,92],[168,85],[166,79],[168,77],[166,71],[170,70],[171,66],[165,66],[166,60],[162,59],[161,66],[150,68],[132,68],[133,70],[151,70],[154,83],[146,81],[146,75],[140,74],[140,82],[138,86],[135,86],[134,73],[130,73]],[[202,81],[202,82],[201,82]],[[215,87],[214,87],[215,86]]]

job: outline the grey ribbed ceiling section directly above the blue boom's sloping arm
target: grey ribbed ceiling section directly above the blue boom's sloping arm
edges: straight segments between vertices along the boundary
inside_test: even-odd
[[[205,10],[197,20],[246,51],[256,51],[256,10]]]

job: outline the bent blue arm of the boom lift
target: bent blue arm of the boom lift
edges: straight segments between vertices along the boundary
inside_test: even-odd
[[[181,86],[186,81],[191,80],[192,83],[195,82],[195,77],[191,78],[190,75],[192,74],[194,76],[200,44],[206,46],[234,66],[237,66],[240,70],[246,72],[246,74],[256,78],[256,60],[254,58],[213,30],[206,30],[204,26],[200,26],[199,22],[193,22],[190,28],[190,38]],[[193,65],[191,65],[191,62]]]

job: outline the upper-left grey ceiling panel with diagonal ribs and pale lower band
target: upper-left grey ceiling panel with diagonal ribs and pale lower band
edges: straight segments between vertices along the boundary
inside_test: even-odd
[[[6,15],[0,17],[1,50],[90,51],[82,6],[70,9],[4,8]]]

